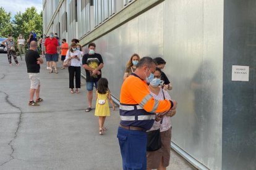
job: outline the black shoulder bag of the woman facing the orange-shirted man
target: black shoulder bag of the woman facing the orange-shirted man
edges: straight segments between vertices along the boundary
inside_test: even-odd
[[[163,92],[163,90],[161,90]],[[165,99],[164,92],[163,98]],[[163,119],[161,119],[160,124],[162,124]],[[149,131],[147,133],[147,152],[152,152],[160,149],[162,147],[160,129],[154,131]]]

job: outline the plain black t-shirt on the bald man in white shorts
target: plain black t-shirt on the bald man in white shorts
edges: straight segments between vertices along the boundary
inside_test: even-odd
[[[28,73],[39,73],[40,72],[40,64],[36,63],[40,58],[38,52],[33,50],[28,50],[25,55],[25,60],[27,64]]]

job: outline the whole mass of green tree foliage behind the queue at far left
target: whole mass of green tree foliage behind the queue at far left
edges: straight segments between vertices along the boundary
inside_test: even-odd
[[[0,36],[7,37],[9,33],[17,38],[23,34],[28,38],[30,31],[34,30],[39,36],[43,33],[43,12],[37,13],[35,7],[28,7],[25,12],[17,12],[11,21],[11,13],[0,7]]]

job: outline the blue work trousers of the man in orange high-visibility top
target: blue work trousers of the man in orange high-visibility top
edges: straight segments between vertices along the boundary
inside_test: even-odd
[[[122,155],[122,169],[147,169],[147,134],[118,127],[117,138]]]

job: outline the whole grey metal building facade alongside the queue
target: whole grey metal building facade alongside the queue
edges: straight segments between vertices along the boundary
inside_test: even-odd
[[[172,147],[198,169],[256,168],[254,0],[45,0],[43,31],[96,43],[118,101],[130,55],[163,57]],[[249,81],[232,81],[232,66]]]

